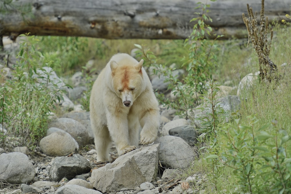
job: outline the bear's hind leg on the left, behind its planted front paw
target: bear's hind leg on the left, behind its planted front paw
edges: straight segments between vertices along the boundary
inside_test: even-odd
[[[94,136],[97,161],[109,161],[109,144],[111,143],[111,139],[107,127],[102,125],[101,129],[99,129]]]

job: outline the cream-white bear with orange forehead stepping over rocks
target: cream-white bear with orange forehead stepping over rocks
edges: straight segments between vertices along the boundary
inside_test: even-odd
[[[96,79],[90,98],[90,120],[97,161],[109,160],[109,144],[118,155],[155,141],[159,128],[159,105],[148,75],[130,55],[113,55]]]

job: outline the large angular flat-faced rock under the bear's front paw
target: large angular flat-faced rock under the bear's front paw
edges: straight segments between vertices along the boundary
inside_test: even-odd
[[[159,144],[128,152],[112,164],[93,170],[90,182],[103,193],[151,182],[157,176],[158,152]]]

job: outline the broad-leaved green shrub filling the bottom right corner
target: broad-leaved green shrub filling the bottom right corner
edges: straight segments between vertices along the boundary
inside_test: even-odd
[[[275,119],[259,127],[256,134],[254,125],[258,120],[249,119],[247,125],[237,119],[236,125],[221,129],[221,142],[225,142],[221,161],[233,169],[240,190],[245,193],[290,193],[291,159],[285,147],[291,136],[278,128]],[[274,133],[266,132],[269,127],[274,127]]]

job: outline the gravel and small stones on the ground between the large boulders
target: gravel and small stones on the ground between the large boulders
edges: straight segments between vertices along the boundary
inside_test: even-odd
[[[87,151],[89,150],[89,151]],[[111,161],[113,162],[117,158],[117,151],[115,146],[111,146]],[[107,163],[96,163],[96,151],[94,150],[94,145],[88,145],[86,149],[79,150],[79,155],[86,158],[92,164],[92,170],[105,166]],[[55,157],[48,157],[41,152],[36,152],[32,155],[29,155],[30,161],[33,163],[33,166],[36,169],[36,175],[31,182],[24,186],[24,184],[11,184],[1,182],[0,193],[1,194],[16,194],[16,193],[45,193],[45,194],[54,194],[60,193],[57,190],[64,185],[80,185],[84,190],[78,190],[86,193],[94,193],[93,187],[90,186],[90,177],[92,170],[88,173],[76,175],[74,179],[77,182],[69,181],[67,178],[62,178],[58,182],[51,181],[49,178],[49,169],[52,166],[52,163]],[[201,185],[203,182],[207,181],[207,178],[202,174],[193,174],[187,179],[182,180],[181,174],[182,170],[178,169],[164,169],[162,166],[159,166],[159,172],[162,174],[157,175],[156,180],[152,182],[144,182],[140,185],[135,186],[134,188],[122,188],[120,190],[108,191],[107,193],[113,194],[123,194],[123,193],[199,193],[203,191]],[[84,182],[88,184],[84,184]],[[196,188],[190,188],[196,185]],[[92,191],[88,191],[85,188],[89,188]],[[73,188],[75,189],[75,188]],[[76,191],[76,190],[74,190]],[[61,193],[71,193],[70,189],[62,191]]]

